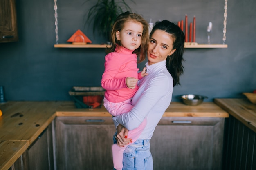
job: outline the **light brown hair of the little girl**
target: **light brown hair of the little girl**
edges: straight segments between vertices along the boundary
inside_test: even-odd
[[[120,14],[117,17],[111,31],[111,36],[110,36],[111,46],[106,49],[106,53],[108,54],[108,53],[114,52],[117,44],[119,46],[122,46],[121,42],[116,38],[116,32],[117,31],[121,32],[121,30],[124,28],[124,24],[128,21],[139,22],[143,26],[143,33],[141,36],[141,45],[139,46],[138,49],[133,51],[133,53],[137,54],[137,57],[139,57],[138,63],[140,63],[146,59],[148,42],[149,42],[149,32],[148,32],[148,22],[143,17],[141,17],[141,15],[137,13],[130,13],[129,11],[127,11],[125,13]]]

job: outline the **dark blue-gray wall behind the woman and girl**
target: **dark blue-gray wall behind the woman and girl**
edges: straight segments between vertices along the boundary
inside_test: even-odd
[[[105,42],[84,25],[91,3],[58,0],[59,43],[81,29],[93,43]],[[134,12],[149,21],[184,20],[196,16],[196,42],[207,42],[206,27],[213,22],[213,44],[222,44],[224,0],[127,1]],[[7,100],[70,100],[72,86],[101,86],[104,49],[54,48],[54,0],[16,0],[19,41],[0,44],[0,85]],[[177,96],[194,93],[208,101],[243,97],[256,89],[256,1],[228,0],[227,49],[185,49],[185,71]],[[144,64],[144,63],[143,63]],[[143,67],[139,64],[139,68]]]

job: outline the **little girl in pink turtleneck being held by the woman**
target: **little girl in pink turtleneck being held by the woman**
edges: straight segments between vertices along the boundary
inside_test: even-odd
[[[110,39],[111,47],[106,50],[101,86],[106,90],[104,106],[112,116],[117,116],[132,109],[131,100],[138,89],[137,82],[147,75],[146,68],[138,73],[137,57],[139,56],[139,62],[146,58],[148,22],[136,13],[122,13],[112,27]],[[128,138],[136,141],[145,126],[146,119],[139,127],[128,132]],[[125,148],[117,146],[114,140],[112,156],[116,170],[123,167]]]

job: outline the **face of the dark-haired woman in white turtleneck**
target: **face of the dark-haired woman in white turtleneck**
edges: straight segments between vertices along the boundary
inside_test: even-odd
[[[155,30],[148,45],[148,65],[166,60],[175,50],[171,35],[162,30]]]

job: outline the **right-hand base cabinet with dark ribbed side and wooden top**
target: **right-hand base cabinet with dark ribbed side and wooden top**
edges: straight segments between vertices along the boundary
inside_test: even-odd
[[[230,114],[225,121],[222,170],[256,170],[256,104],[247,98],[214,102]]]

